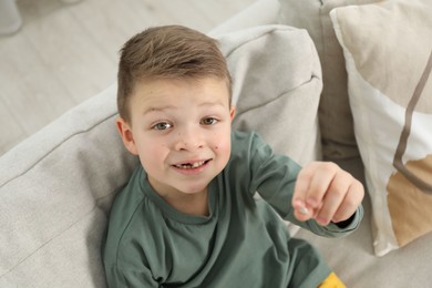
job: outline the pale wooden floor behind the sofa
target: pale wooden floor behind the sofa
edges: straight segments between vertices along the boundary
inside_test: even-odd
[[[115,81],[119,49],[146,27],[208,32],[255,0],[18,0],[0,37],[0,155]]]

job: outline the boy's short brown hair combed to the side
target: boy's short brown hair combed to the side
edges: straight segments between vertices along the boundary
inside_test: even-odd
[[[198,31],[181,25],[150,28],[131,38],[120,52],[117,107],[126,122],[131,120],[130,97],[135,85],[145,80],[226,80],[230,103],[232,79],[226,60],[217,41]]]

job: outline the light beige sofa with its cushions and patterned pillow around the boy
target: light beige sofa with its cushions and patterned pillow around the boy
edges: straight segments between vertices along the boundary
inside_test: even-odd
[[[350,236],[287,223],[348,287],[432,287],[431,12],[429,0],[259,0],[209,33],[233,74],[235,128],[364,184]],[[106,287],[110,207],[138,165],[115,96],[113,83],[1,156],[0,287]]]

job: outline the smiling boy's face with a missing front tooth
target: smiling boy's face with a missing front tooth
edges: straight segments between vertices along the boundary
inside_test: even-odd
[[[128,109],[131,123],[120,119],[119,131],[161,196],[204,192],[227,164],[234,109],[224,80],[137,84]]]

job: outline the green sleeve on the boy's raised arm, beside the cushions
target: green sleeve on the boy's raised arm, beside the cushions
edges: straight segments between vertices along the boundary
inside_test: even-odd
[[[257,192],[284,219],[317,235],[340,237],[356,230],[363,216],[359,206],[343,226],[330,223],[320,226],[316,220],[299,222],[294,216],[291,199],[297,175],[301,166],[285,155],[277,155],[258,135],[254,135],[250,147],[250,191]]]

